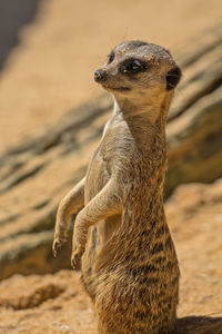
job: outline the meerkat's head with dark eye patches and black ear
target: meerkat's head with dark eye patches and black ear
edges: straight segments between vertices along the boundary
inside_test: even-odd
[[[167,49],[140,40],[114,48],[94,73],[94,80],[118,100],[163,97],[174,90],[180,78],[181,70]]]

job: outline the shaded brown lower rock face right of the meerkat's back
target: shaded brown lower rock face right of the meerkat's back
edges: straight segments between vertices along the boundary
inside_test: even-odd
[[[168,125],[167,197],[181,183],[211,183],[222,175],[222,86]]]

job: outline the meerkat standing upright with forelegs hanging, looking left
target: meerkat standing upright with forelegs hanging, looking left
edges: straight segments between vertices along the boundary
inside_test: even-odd
[[[114,48],[94,80],[114,97],[85,177],[61,200],[53,253],[77,215],[71,263],[81,262],[100,334],[171,333],[179,264],[163,208],[165,124],[181,70],[139,40]]]

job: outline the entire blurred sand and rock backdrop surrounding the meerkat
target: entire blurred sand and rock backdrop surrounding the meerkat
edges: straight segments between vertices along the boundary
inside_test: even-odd
[[[169,48],[183,70],[165,183],[182,272],[176,333],[222,333],[221,12],[218,0],[0,0],[0,333],[95,331],[67,271],[70,243],[52,257],[54,215],[112,109],[93,72],[133,38]]]

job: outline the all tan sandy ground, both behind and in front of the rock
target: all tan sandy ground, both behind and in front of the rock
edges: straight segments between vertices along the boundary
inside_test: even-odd
[[[113,45],[139,38],[185,50],[222,18],[221,8],[221,0],[42,1],[0,75],[0,151],[99,95],[93,72]],[[167,205],[181,267],[180,317],[222,317],[221,194],[221,180],[189,185]],[[0,305],[0,334],[95,333],[90,301],[70,271],[3,281]]]

